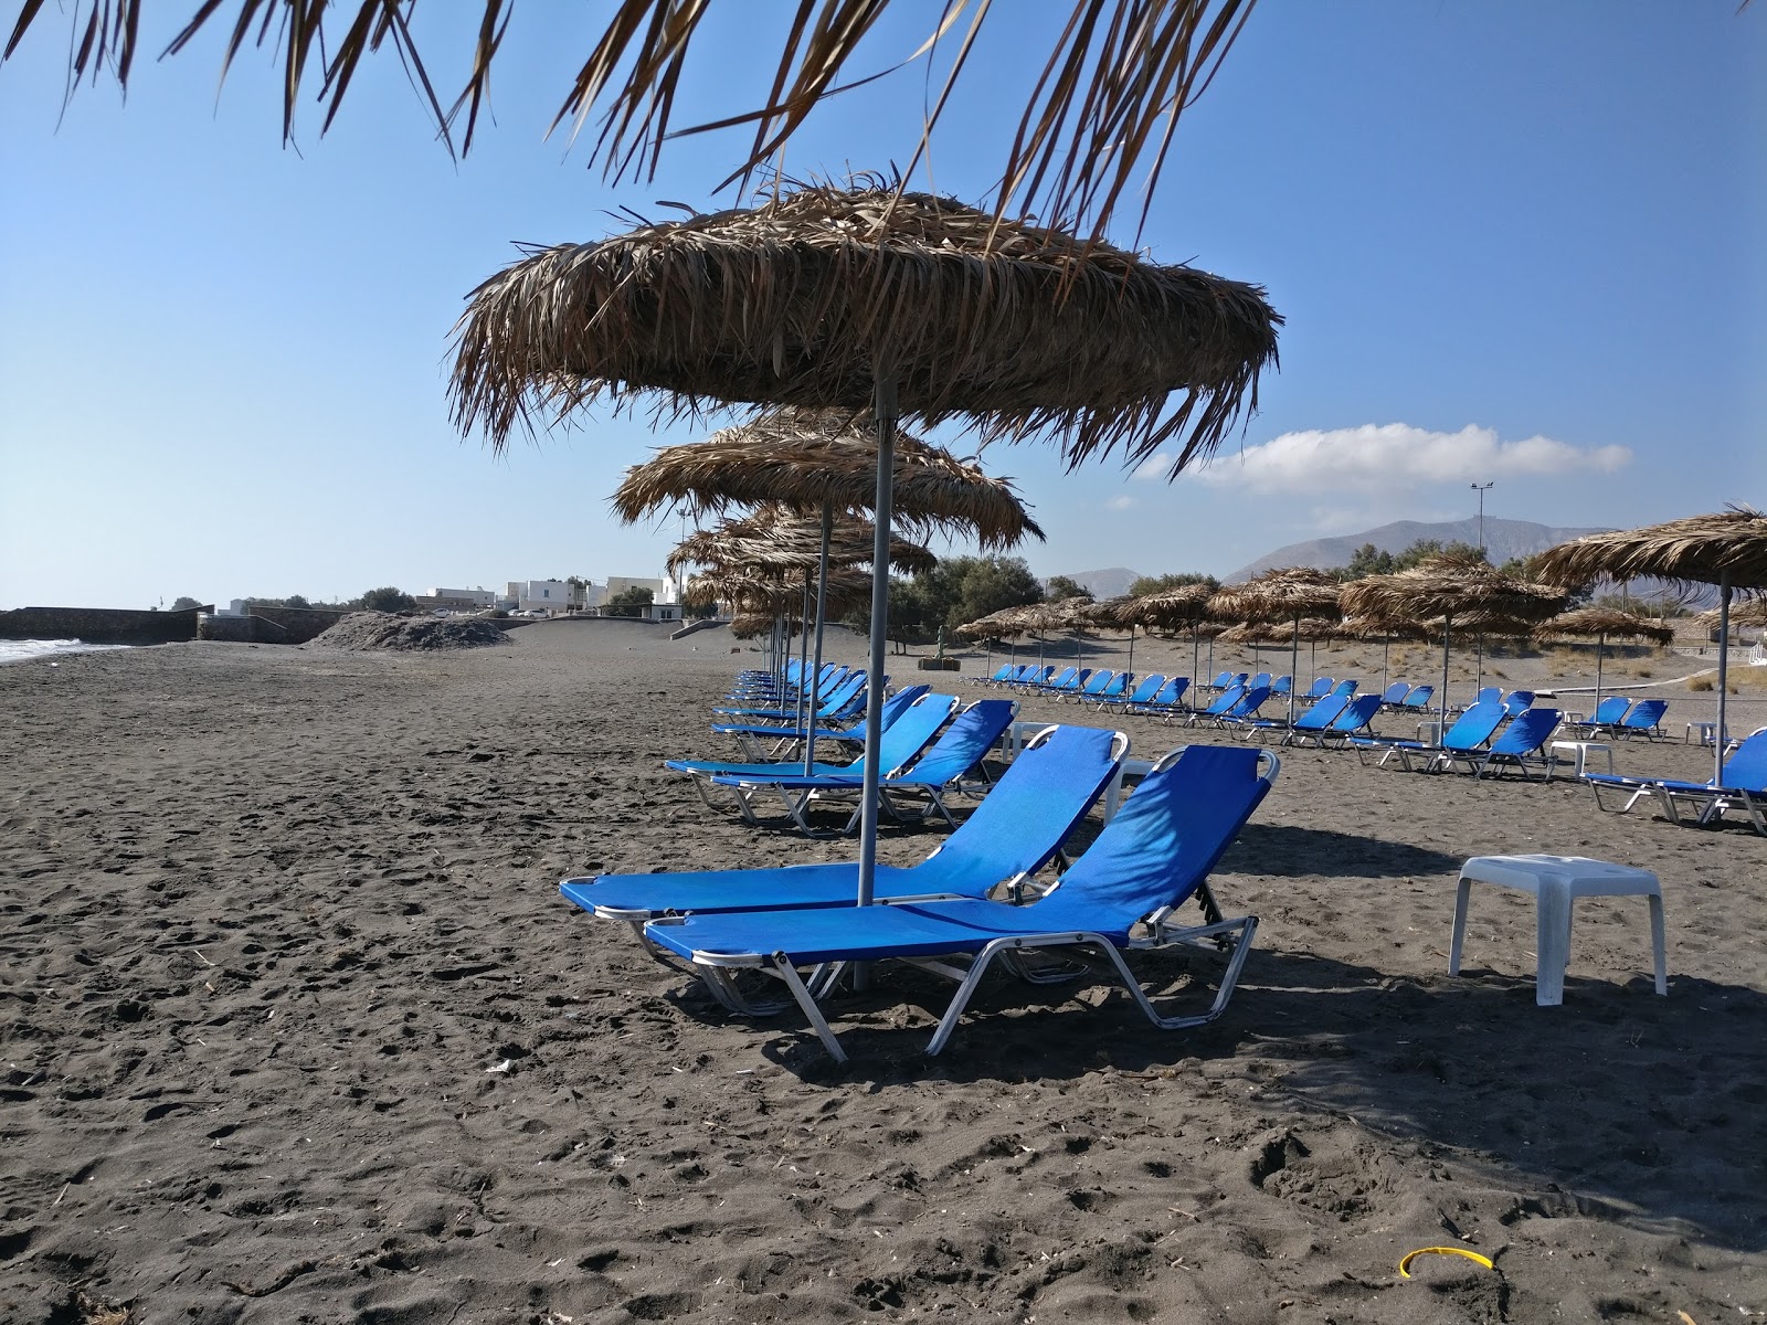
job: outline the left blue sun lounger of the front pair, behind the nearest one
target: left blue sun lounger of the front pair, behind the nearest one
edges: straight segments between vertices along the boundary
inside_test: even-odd
[[[1014,896],[1060,853],[1062,843],[1104,795],[1129,753],[1129,737],[1092,726],[1046,726],[926,860],[878,862],[875,896],[986,897],[997,887]],[[767,869],[696,869],[668,874],[567,878],[564,897],[604,920],[624,920],[643,936],[661,915],[852,906],[859,864],[804,864]]]

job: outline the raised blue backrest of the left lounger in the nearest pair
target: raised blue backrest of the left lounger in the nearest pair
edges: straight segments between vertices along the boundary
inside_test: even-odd
[[[944,846],[915,867],[915,878],[926,878],[928,890],[938,887],[938,876],[963,880],[963,892],[981,896],[1020,871],[1035,873],[1104,793],[1122,760],[1117,744],[1127,749],[1115,731],[1096,726],[1062,724],[1037,738]],[[1039,860],[1025,860],[1028,841],[1048,843]]]

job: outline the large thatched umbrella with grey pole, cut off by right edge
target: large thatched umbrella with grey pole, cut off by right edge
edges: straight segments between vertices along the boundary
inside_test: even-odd
[[[1590,534],[1543,551],[1536,574],[1555,585],[1654,576],[1682,585],[1718,585],[1718,753],[1712,777],[1725,777],[1725,708],[1730,694],[1730,599],[1767,588],[1767,514],[1733,505],[1710,516]]]

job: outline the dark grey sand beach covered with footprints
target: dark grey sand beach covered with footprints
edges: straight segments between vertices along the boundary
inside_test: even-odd
[[[1103,984],[997,979],[928,1060],[945,986],[885,979],[836,1009],[838,1067],[795,1014],[723,1014],[557,894],[852,859],[661,770],[724,749],[707,708],[756,659],[730,643],[544,624],[0,668],[0,1320],[1767,1313],[1767,837],[1597,814],[1566,777],[1285,751],[1216,874],[1262,917],[1219,1021],[1161,1034]],[[965,666],[942,680],[975,698]],[[1675,737],[1710,712],[1663,694]],[[1186,740],[1124,724],[1138,754]],[[1710,772],[1677,742],[1617,761]],[[1475,892],[1451,979],[1458,866],[1509,852],[1657,871],[1670,996],[1624,897],[1578,906],[1562,1007],[1534,1003],[1520,894]],[[1497,1268],[1398,1276],[1442,1244]]]

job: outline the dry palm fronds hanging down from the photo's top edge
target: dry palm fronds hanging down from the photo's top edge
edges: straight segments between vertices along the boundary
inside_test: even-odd
[[[1030,83],[1018,131],[1011,138],[1004,170],[998,171],[1000,210],[1012,198],[1021,207],[1048,216],[1092,217],[1099,230],[1110,219],[1126,189],[1152,196],[1161,166],[1172,145],[1172,129],[1189,104],[1209,87],[1233,39],[1251,16],[1253,0],[1073,0],[1064,21],[1039,14],[1035,23],[1018,23],[1025,37],[1050,34],[1048,53],[1034,48],[1014,58],[979,58],[998,83],[1004,76],[1023,74]],[[5,46],[5,57],[18,49],[32,21],[42,12],[41,0],[27,0]],[[101,69],[113,69],[117,81],[129,85],[140,44],[143,0],[74,0],[72,41],[69,42],[69,92]],[[166,55],[193,44],[198,32],[228,5],[221,0],[196,4],[194,14],[173,39]],[[283,138],[293,132],[295,104],[307,81],[309,64],[320,78],[318,99],[325,102],[329,129],[350,90],[364,58],[391,46],[419,90],[426,110],[449,150],[454,147],[454,122],[465,113],[459,150],[472,148],[479,110],[489,92],[491,64],[502,48],[514,5],[509,0],[481,0],[477,23],[458,21],[472,14],[470,5],[452,11],[463,51],[470,49],[470,72],[452,106],[444,108],[412,32],[415,0],[357,0],[353,11],[337,4],[336,19],[327,23],[332,5],[311,0],[237,0],[233,16],[223,18],[228,30],[223,76],[247,42],[270,42],[283,64]],[[576,71],[571,88],[553,118],[553,129],[571,124],[573,132],[604,110],[592,161],[601,161],[610,178],[654,175],[663,143],[670,138],[705,129],[751,124],[753,140],[732,178],[746,175],[802,127],[816,104],[848,87],[868,83],[878,74],[848,74],[848,62],[871,35],[889,9],[889,0],[802,0],[799,5],[717,5],[703,0],[615,0],[608,25],[587,60]],[[937,25],[931,16],[938,11]],[[928,106],[919,145],[903,143],[898,157],[917,161],[947,106],[954,83],[972,64],[974,42],[993,9],[972,0],[951,0],[928,7],[929,30],[921,48],[894,69],[928,58],[922,78],[942,81],[942,94]],[[693,39],[707,25],[701,48],[719,42],[717,23],[709,19],[735,12],[749,28],[765,25],[783,12],[792,19],[779,34],[779,60],[770,87],[753,110],[721,115],[712,124],[675,129],[671,110],[693,88],[716,78],[724,90],[735,85],[723,49],[714,49],[700,76],[687,74]],[[961,23],[968,11],[968,23]],[[449,14],[449,7],[444,7]],[[539,12],[551,12],[541,7]],[[1014,14],[1016,18],[1016,14]],[[1014,18],[1000,23],[1014,23]],[[555,21],[557,19],[555,16]],[[339,26],[343,28],[339,32]],[[959,28],[967,26],[961,39]],[[726,30],[728,32],[728,30]],[[938,51],[949,51],[944,71],[933,65]],[[891,55],[889,58],[896,58]],[[716,69],[716,74],[710,72]],[[760,74],[763,65],[756,69]],[[1041,72],[1039,72],[1041,71]],[[998,88],[997,88],[998,92]],[[1007,111],[1011,115],[1011,110]],[[1138,178],[1143,171],[1145,180]],[[1147,201],[1143,200],[1143,208]]]

